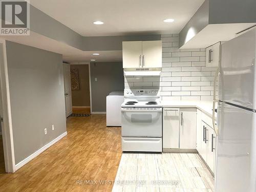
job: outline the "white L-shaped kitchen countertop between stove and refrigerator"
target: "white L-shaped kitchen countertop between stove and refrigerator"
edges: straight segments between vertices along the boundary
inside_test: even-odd
[[[212,118],[212,101],[162,101],[161,104],[163,108],[198,108]]]

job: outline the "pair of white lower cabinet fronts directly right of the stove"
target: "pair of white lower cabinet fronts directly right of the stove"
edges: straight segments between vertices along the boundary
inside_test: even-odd
[[[196,149],[196,108],[163,109],[163,148]]]

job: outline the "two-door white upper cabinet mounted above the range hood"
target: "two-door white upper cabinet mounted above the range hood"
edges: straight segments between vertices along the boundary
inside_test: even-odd
[[[123,68],[161,68],[162,41],[123,41]]]

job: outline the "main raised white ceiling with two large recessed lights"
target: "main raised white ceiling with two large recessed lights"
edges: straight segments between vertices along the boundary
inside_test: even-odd
[[[204,0],[30,0],[82,36],[179,33]],[[173,23],[164,23],[174,18]],[[101,20],[103,25],[94,25]]]

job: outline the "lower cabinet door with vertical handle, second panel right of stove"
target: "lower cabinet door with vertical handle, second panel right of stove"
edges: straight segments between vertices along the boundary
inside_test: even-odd
[[[197,109],[180,109],[180,148],[196,148]]]

